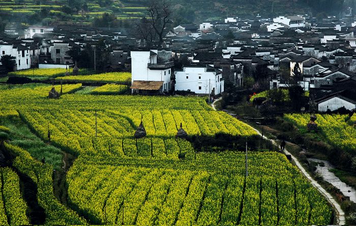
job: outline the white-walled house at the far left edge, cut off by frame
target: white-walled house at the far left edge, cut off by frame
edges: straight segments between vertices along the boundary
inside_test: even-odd
[[[24,70],[24,69],[29,69],[31,67],[29,48],[27,48],[22,44],[1,43],[0,58],[3,55],[11,55],[14,57],[14,61],[15,61],[14,70]]]

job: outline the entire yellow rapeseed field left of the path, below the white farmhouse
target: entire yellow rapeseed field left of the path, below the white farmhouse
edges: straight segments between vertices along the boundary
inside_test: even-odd
[[[62,87],[59,99],[48,99],[50,89],[0,89],[1,131],[11,134],[1,124],[4,117],[19,117],[44,142],[77,157],[65,177],[67,206],[54,195],[53,166],[36,159],[35,150],[5,142],[13,167],[37,185],[46,224],[333,223],[328,202],[283,154],[249,151],[246,177],[245,153],[238,148],[195,149],[193,137],[257,138],[249,125],[213,110],[204,98],[74,94],[81,84],[72,84]],[[146,136],[137,139],[141,122]],[[175,137],[181,123],[188,139]],[[2,183],[5,197],[11,186]],[[19,209],[4,214],[0,208],[2,223],[23,216]],[[26,217],[15,224],[26,224]]]

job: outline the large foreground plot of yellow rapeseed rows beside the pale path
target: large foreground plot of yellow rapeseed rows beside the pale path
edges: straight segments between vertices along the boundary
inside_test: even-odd
[[[95,223],[138,225],[191,224],[329,224],[332,212],[328,203],[298,170],[277,153],[250,153],[253,162],[285,165],[271,172],[263,165],[249,162],[251,168],[243,176],[244,155],[212,154],[196,160],[176,160],[217,164],[231,156],[240,158],[241,171],[225,174],[215,168],[199,167],[176,170],[165,161],[161,167],[127,164],[94,164],[76,161],[68,173],[68,195],[79,212]],[[79,157],[80,158],[80,157]],[[141,162],[144,160],[141,159]],[[288,166],[287,166],[288,165]],[[217,164],[217,167],[221,167]],[[225,164],[228,168],[229,164]],[[256,168],[258,167],[258,168]],[[254,172],[256,170],[256,172]],[[277,173],[276,173],[277,172]],[[290,175],[290,176],[289,176]]]

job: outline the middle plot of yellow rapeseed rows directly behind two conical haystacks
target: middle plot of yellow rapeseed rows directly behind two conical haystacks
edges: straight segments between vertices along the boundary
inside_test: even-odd
[[[133,138],[135,128],[142,118],[147,136],[162,138],[174,137],[177,128],[183,128],[189,135],[215,135],[227,133],[231,135],[249,136],[255,132],[248,125],[218,111],[188,111],[188,110],[145,110],[127,112],[119,111],[20,111],[22,118],[43,138],[50,138],[61,147],[75,152],[109,151],[131,155],[138,152],[142,155],[141,142],[135,145],[135,140],[124,139],[123,144],[117,138]],[[97,130],[96,130],[97,121]],[[50,131],[50,137],[48,137]],[[96,138],[97,135],[97,138]],[[109,141],[112,140],[112,141]],[[134,145],[132,146],[132,144]],[[159,142],[151,148],[151,155],[159,155]],[[162,148],[169,155],[174,149]],[[130,148],[130,147],[133,148]],[[137,146],[137,147],[136,147]]]

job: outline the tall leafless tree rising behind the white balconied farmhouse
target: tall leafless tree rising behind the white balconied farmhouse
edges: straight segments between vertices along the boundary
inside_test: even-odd
[[[158,36],[159,45],[162,45],[168,25],[173,23],[170,6],[166,0],[151,0],[147,12],[148,20]]]

